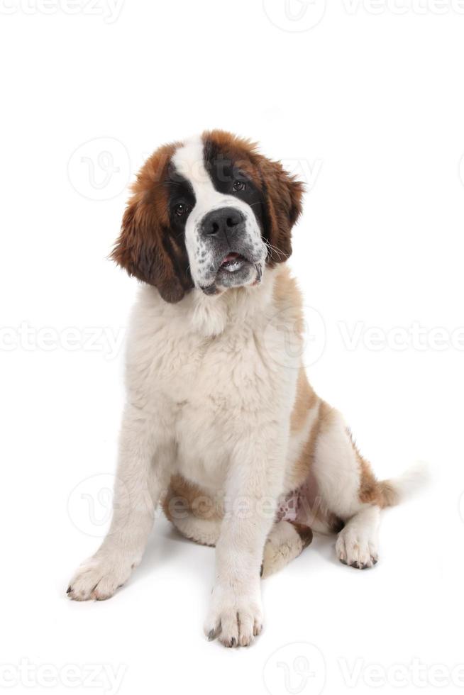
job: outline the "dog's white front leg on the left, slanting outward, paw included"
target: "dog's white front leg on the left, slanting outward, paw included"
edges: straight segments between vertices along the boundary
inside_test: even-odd
[[[153,413],[126,406],[111,527],[99,550],[71,579],[67,593],[72,599],[109,599],[142,559],[170,459],[169,443],[154,421]]]

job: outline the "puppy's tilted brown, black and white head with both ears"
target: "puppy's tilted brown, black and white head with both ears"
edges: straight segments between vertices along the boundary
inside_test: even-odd
[[[179,301],[259,284],[287,260],[303,186],[255,145],[221,130],[165,145],[143,165],[112,257]]]

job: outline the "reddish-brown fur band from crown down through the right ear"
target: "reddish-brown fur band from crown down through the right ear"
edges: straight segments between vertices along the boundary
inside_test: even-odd
[[[206,157],[233,162],[263,195],[263,239],[268,244],[267,265],[284,262],[292,254],[292,227],[302,212],[304,186],[282,167],[258,152],[250,140],[224,130],[203,133]]]

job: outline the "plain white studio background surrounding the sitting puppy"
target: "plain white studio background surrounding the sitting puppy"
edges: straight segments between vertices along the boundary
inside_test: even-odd
[[[121,694],[458,692],[463,4],[0,7],[2,686],[114,692],[101,674],[91,687],[96,665],[122,674]],[[65,597],[108,521],[137,283],[106,256],[127,185],[158,145],[211,127],[306,180],[292,267],[314,387],[380,477],[433,469],[384,514],[375,569],[343,567],[316,538],[263,582],[265,630],[247,650],[204,639],[213,551],[163,519],[111,601]],[[72,687],[56,684],[67,665]]]

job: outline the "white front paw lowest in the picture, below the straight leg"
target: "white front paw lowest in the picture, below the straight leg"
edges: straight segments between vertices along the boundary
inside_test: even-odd
[[[251,593],[215,586],[211,610],[204,624],[209,640],[216,637],[225,647],[248,647],[263,629],[260,589]]]

